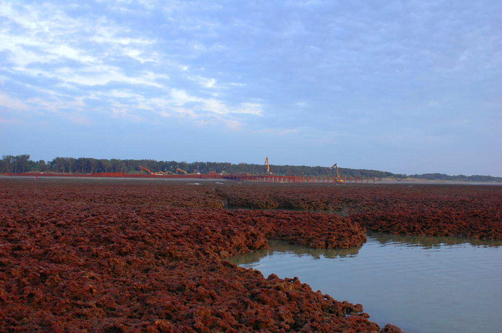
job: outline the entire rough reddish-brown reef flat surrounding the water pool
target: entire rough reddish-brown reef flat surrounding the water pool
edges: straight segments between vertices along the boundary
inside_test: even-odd
[[[361,225],[391,230],[402,210],[431,225],[424,214],[444,207],[446,225],[473,219],[460,234],[500,239],[500,188],[410,190],[2,179],[0,332],[399,332],[360,304],[224,258],[267,239],[360,246]],[[273,201],[284,210],[255,207]]]

